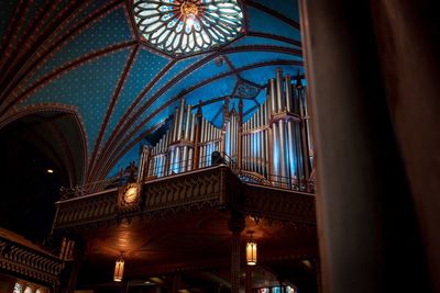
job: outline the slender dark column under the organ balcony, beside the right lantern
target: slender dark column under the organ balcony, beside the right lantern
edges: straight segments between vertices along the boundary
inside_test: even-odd
[[[240,235],[244,229],[244,217],[240,214],[232,214],[228,223],[232,232],[231,251],[231,293],[240,291]]]

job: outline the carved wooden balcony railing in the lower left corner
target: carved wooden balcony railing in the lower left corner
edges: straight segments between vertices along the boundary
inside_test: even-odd
[[[57,286],[63,268],[64,262],[59,258],[0,235],[1,270]]]

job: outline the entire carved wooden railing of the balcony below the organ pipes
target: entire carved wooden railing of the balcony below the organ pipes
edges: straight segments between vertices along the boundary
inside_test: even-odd
[[[163,216],[179,211],[228,209],[256,217],[315,224],[315,196],[241,182],[226,165],[146,181],[139,200],[121,205],[118,189],[56,203],[54,228],[136,215]]]

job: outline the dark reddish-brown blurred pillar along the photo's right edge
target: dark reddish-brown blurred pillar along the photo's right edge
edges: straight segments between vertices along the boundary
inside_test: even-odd
[[[440,22],[436,3],[374,0],[372,9],[393,124],[433,291],[440,292]]]

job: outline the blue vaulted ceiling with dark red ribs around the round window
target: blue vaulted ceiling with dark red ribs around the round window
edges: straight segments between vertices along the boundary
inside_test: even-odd
[[[297,0],[241,4],[239,38],[178,58],[139,38],[130,0],[1,1],[0,127],[32,109],[73,109],[87,142],[84,181],[92,182],[138,159],[182,98],[202,101],[219,126],[223,99],[237,106],[248,90],[250,119],[276,68],[296,76],[304,67]]]

